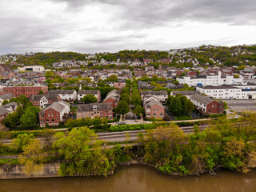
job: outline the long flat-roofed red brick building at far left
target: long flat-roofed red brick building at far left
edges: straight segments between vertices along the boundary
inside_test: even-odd
[[[4,94],[13,94],[15,97],[24,94],[27,98],[30,98],[34,94],[39,94],[42,90],[44,94],[48,92],[48,86],[4,86]]]

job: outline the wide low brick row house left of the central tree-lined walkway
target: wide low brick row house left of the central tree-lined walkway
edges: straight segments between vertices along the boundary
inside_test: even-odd
[[[77,118],[106,117],[113,120],[113,107],[110,103],[90,103],[78,106]]]

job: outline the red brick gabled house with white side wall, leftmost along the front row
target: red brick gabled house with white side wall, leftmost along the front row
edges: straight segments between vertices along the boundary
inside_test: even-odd
[[[70,113],[70,104],[67,102],[54,102],[46,109],[41,110],[39,115],[39,123],[41,127],[59,126],[59,122],[65,122],[65,117]]]

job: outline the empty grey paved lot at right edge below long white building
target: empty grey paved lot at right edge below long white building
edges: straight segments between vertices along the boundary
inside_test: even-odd
[[[230,110],[242,112],[245,110],[253,110],[256,111],[256,100],[240,100],[240,99],[232,99],[232,100],[222,100],[228,104],[228,108]]]

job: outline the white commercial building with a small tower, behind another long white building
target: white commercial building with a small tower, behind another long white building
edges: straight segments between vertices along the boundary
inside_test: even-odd
[[[243,78],[234,78],[232,75],[226,75],[222,78],[222,72],[218,71],[218,75],[207,75],[206,78],[190,78],[182,77],[176,79],[180,84],[188,86],[222,86],[222,85],[245,85]]]

